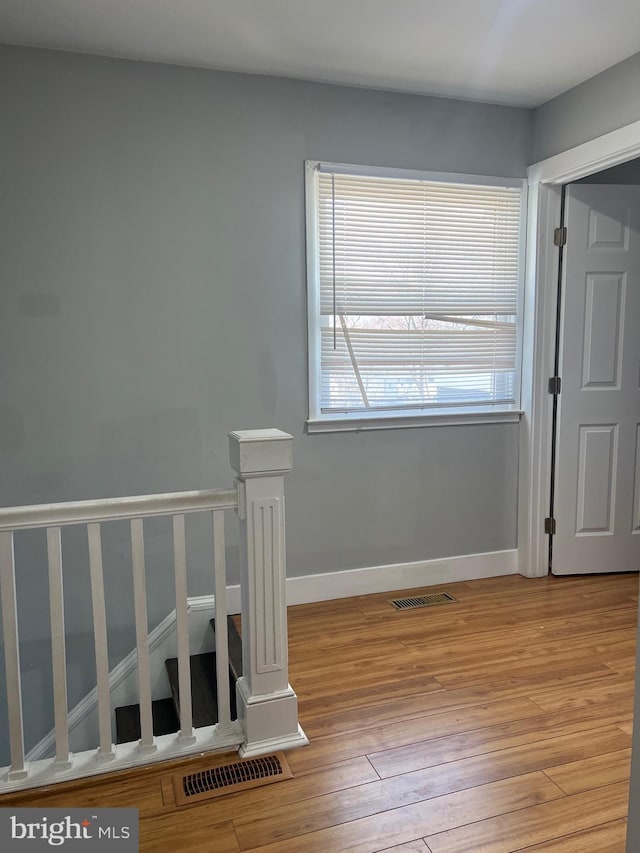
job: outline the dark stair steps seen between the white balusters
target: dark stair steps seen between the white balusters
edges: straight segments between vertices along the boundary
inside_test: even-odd
[[[215,620],[210,621],[215,635]],[[231,616],[227,617],[229,647],[229,688],[231,694],[231,719],[237,716],[236,681],[242,675],[242,639]],[[180,690],[178,687],[178,658],[165,661],[171,696],[155,699],[151,703],[153,734],[168,735],[180,729]],[[191,655],[191,702],[193,725],[211,726],[218,722],[218,697],[216,689],[216,653]],[[130,743],[140,739],[140,705],[123,705],[115,709],[116,743]]]

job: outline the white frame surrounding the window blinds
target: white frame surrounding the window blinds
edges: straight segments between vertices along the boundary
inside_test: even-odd
[[[322,412],[320,406],[321,356],[320,356],[320,270],[318,251],[318,197],[316,174],[362,175],[406,180],[459,183],[476,186],[515,187],[521,191],[520,229],[518,245],[518,286],[516,317],[515,403],[464,407],[411,407],[407,409],[373,410],[371,412]],[[486,424],[517,422],[522,410],[522,337],[524,305],[524,268],[527,218],[526,178],[505,178],[487,175],[467,175],[449,172],[426,172],[414,169],[362,166],[332,163],[324,160],[305,161],[305,208],[307,254],[307,366],[308,366],[308,417],[307,432],[343,432],[365,429],[397,429],[419,426],[444,426],[455,424]]]

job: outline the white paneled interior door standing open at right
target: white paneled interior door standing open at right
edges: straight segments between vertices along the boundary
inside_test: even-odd
[[[640,569],[640,187],[567,187],[552,571]]]

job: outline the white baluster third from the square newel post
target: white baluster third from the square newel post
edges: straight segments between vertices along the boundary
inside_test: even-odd
[[[138,652],[138,696],[140,701],[140,752],[155,752],[153,713],[151,710],[151,665],[149,662],[149,625],[144,565],[144,531],[141,518],[131,521],[131,563]]]

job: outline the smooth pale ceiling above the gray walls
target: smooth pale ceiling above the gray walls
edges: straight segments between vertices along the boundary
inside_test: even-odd
[[[0,42],[534,107],[640,51],[640,2],[0,0]]]

